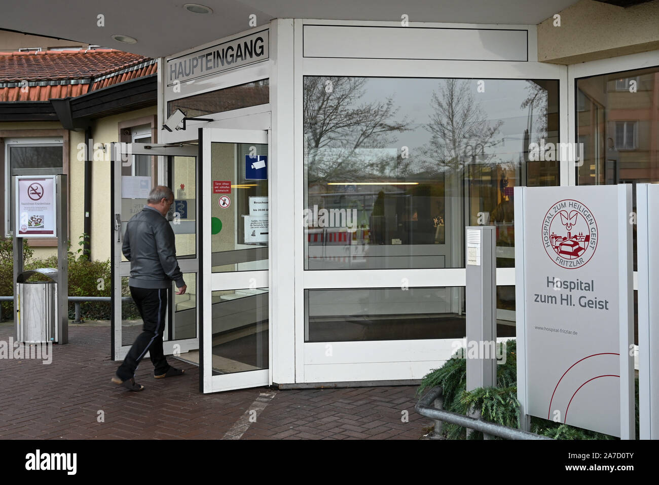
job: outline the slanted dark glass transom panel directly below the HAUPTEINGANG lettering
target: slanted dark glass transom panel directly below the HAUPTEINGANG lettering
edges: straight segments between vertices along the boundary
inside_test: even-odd
[[[187,117],[196,117],[268,104],[269,102],[269,80],[261,79],[260,81],[247,82],[239,86],[231,86],[230,88],[170,101],[167,103],[167,116],[171,116],[176,110],[181,110]]]

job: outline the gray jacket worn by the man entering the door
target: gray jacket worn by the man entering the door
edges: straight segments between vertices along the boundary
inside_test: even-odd
[[[169,288],[171,280],[177,288],[185,285],[176,261],[174,231],[154,207],[145,205],[130,218],[122,250],[130,261],[129,286]]]

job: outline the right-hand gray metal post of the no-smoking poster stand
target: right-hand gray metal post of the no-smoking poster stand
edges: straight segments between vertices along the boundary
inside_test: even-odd
[[[69,343],[69,220],[67,214],[68,176],[55,179],[57,200],[57,342]]]

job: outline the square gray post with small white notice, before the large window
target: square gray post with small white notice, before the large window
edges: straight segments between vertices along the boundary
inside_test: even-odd
[[[467,391],[496,386],[496,228],[467,226]],[[475,354],[475,355],[474,355]],[[475,357],[475,358],[474,358]],[[479,417],[475,413],[474,417]],[[467,431],[468,433],[470,430]]]

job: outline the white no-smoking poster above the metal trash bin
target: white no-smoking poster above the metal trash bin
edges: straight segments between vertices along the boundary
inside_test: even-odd
[[[55,177],[18,176],[14,182],[17,238],[56,238]]]

